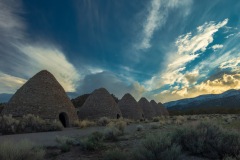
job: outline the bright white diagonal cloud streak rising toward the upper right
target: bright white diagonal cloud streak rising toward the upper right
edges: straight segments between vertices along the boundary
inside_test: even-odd
[[[195,35],[189,32],[179,36],[175,42],[177,51],[168,54],[167,66],[159,73],[159,76],[153,76],[151,80],[146,82],[147,88],[152,90],[160,88],[163,84],[173,85],[174,83],[188,87],[188,80],[184,76],[187,69],[186,65],[198,58],[207,49],[208,45],[213,42],[214,33],[225,26],[227,22],[228,19],[217,24],[215,22],[205,23],[197,28]],[[191,73],[188,71],[187,74]]]

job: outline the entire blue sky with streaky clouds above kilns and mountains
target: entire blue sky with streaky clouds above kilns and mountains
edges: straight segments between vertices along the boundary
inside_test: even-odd
[[[76,95],[240,89],[239,0],[0,0],[0,94],[41,70]]]

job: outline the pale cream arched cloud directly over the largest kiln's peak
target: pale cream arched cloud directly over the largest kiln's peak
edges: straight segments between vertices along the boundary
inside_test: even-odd
[[[64,53],[49,45],[19,46],[19,50],[29,58],[31,68],[27,70],[29,76],[39,70],[46,69],[54,73],[57,80],[67,92],[75,92],[80,75],[74,66],[66,59]]]

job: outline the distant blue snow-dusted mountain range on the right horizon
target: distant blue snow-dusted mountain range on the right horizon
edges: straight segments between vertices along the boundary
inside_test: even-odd
[[[222,94],[206,94],[164,103],[168,109],[195,109],[209,107],[240,108],[240,90],[228,90]]]

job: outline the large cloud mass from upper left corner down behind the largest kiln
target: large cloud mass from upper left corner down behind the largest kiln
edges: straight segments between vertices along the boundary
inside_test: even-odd
[[[0,8],[1,68],[11,65],[11,72],[25,79],[46,69],[56,76],[66,91],[75,91],[80,76],[63,52],[52,44],[25,44],[29,41],[25,33],[26,25],[17,15],[21,11],[20,1],[1,1]],[[0,78],[4,80],[0,90],[5,93],[13,93],[25,82],[25,79],[8,74],[2,74]]]

